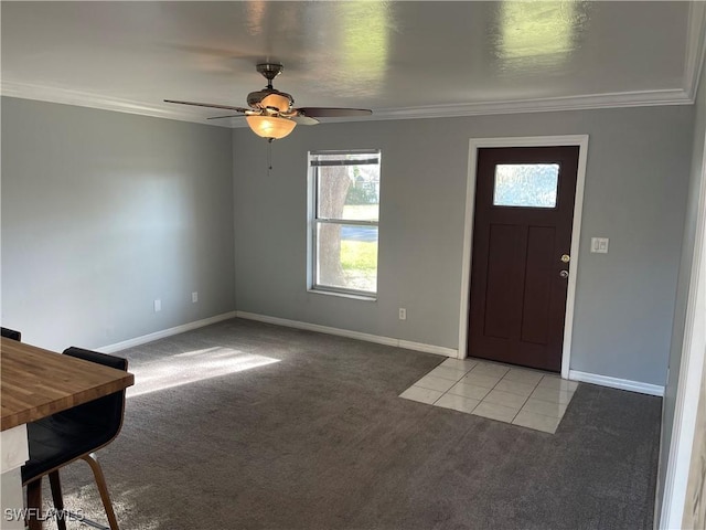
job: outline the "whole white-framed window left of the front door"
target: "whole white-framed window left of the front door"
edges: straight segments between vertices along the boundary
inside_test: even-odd
[[[309,153],[309,287],[377,293],[379,150]]]

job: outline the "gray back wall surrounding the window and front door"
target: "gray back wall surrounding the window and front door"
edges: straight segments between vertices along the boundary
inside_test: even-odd
[[[469,138],[588,134],[571,369],[664,384],[689,171],[689,106],[234,134],[237,308],[458,347]],[[306,289],[307,151],[381,148],[378,299]],[[591,236],[610,237],[608,255]],[[397,308],[407,308],[407,320]]]

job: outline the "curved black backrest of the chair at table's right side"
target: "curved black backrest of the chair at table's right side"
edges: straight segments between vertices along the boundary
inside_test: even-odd
[[[64,350],[64,354],[96,362],[104,367],[127,371],[128,361],[121,357],[108,356],[97,351],[84,350],[71,347]],[[84,424],[93,424],[96,427],[97,445],[105,445],[120,432],[122,415],[125,412],[125,390],[115,392],[104,398],[77,405],[56,415],[63,415],[67,420],[79,421]]]

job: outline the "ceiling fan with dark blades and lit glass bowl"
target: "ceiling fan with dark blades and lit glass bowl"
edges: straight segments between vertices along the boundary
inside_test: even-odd
[[[212,103],[179,102],[164,99],[165,103],[176,103],[179,105],[193,105],[197,107],[221,108],[224,110],[235,110],[235,115],[214,116],[207,119],[233,118],[245,116],[247,125],[258,136],[267,138],[269,141],[278,140],[289,135],[297,124],[317,125],[317,118],[338,118],[346,116],[367,116],[373,114],[366,108],[332,108],[332,107],[301,107],[293,108],[295,98],[291,95],[279,92],[272,87],[272,80],[285,70],[278,63],[261,63],[256,66],[257,71],[267,80],[267,86],[261,91],[252,92],[247,95],[246,107],[233,107],[229,105],[217,105]]]

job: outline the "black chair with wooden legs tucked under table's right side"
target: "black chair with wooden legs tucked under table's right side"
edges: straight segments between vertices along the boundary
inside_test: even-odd
[[[118,370],[128,369],[126,359],[90,350],[68,348],[64,354]],[[125,391],[120,391],[28,423],[30,459],[22,467],[22,484],[26,485],[29,513],[39,513],[42,506],[42,477],[45,475],[49,475],[55,510],[64,510],[58,469],[81,458],[93,470],[110,530],[118,530],[106,479],[95,452],[118,435],[124,412]],[[63,517],[57,518],[56,522],[60,530],[66,529]],[[42,522],[36,519],[30,519],[28,523],[30,530],[42,528]]]

